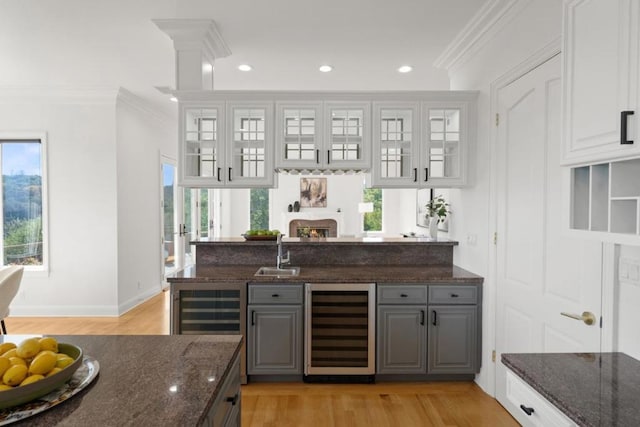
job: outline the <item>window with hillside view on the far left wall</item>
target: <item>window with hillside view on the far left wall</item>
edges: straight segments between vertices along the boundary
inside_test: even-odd
[[[45,138],[4,136],[0,135],[2,265],[41,269],[38,266],[46,264]]]

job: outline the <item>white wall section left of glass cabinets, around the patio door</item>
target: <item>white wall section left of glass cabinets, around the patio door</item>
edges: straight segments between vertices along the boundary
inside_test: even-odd
[[[162,288],[160,154],[176,158],[175,121],[120,90],[117,112],[118,311]]]

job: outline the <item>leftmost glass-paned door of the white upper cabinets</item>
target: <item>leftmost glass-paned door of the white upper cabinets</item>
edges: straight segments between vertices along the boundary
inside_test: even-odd
[[[204,186],[223,181],[224,104],[181,106],[180,185]]]

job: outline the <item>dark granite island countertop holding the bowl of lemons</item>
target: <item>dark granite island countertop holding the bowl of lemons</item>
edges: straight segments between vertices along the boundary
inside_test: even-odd
[[[11,337],[5,339],[12,341]],[[68,401],[13,425],[197,425],[213,404],[242,341],[239,335],[56,338],[95,358],[100,373]]]

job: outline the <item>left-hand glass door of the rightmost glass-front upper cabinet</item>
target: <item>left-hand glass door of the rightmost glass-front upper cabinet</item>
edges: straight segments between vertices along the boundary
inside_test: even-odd
[[[413,187],[419,180],[418,103],[374,103],[375,186]]]

